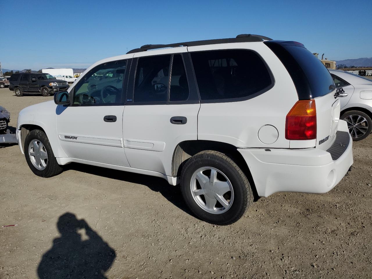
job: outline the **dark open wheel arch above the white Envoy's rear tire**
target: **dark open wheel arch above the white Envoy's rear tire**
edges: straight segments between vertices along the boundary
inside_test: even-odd
[[[179,177],[182,171],[182,167],[186,164],[187,160],[196,153],[204,150],[219,151],[234,160],[235,163],[247,176],[247,179],[252,186],[254,198],[258,198],[256,186],[254,185],[254,181],[246,161],[237,150],[237,147],[225,142],[209,140],[187,140],[180,142],[179,144],[177,144],[173,152],[172,176]]]

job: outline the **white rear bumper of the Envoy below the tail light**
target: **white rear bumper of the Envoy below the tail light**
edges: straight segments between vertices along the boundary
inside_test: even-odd
[[[339,130],[348,132],[345,121]],[[353,164],[353,141],[339,151],[319,148],[306,149],[238,149],[251,171],[259,196],[267,197],[276,192],[326,193],[333,189]],[[342,145],[340,145],[342,147]],[[331,149],[331,148],[330,148]],[[266,149],[268,150],[268,149]],[[336,158],[333,160],[332,157]]]

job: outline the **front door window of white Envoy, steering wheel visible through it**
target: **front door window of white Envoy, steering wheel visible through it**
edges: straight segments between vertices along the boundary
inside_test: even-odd
[[[98,65],[74,88],[74,105],[114,104],[122,102],[126,60]]]

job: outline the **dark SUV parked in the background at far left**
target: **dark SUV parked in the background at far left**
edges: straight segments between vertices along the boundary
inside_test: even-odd
[[[9,79],[9,90],[16,96],[23,96],[24,92],[41,92],[42,96],[49,96],[57,91],[68,89],[67,81],[57,80],[54,76],[45,73],[12,74]]]

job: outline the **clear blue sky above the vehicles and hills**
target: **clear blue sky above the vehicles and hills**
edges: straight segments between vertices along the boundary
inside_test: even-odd
[[[372,1],[367,0],[0,3],[7,11],[1,23],[9,36],[0,39],[0,61],[7,69],[86,68],[144,44],[241,33],[299,41],[330,60],[372,57]]]

